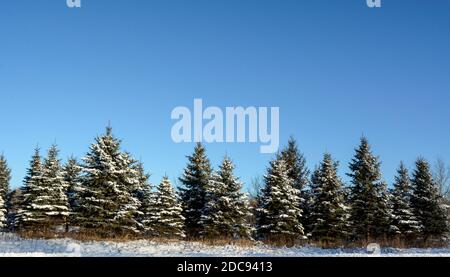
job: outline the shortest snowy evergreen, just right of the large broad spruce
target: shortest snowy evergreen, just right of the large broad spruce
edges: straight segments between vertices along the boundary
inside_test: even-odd
[[[183,208],[169,178],[164,177],[157,187],[152,205],[150,220],[154,235],[162,238],[184,238]]]

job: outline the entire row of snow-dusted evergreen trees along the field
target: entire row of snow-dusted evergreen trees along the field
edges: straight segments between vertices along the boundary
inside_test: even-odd
[[[175,188],[168,177],[153,186],[144,165],[112,133],[96,137],[81,162],[63,165],[53,145],[36,149],[17,203],[8,197],[11,171],[0,156],[0,228],[19,233],[90,233],[101,237],[250,239],[295,244],[442,238],[448,232],[444,198],[429,163],[410,174],[400,163],[391,188],[380,161],[361,138],[349,164],[351,185],[325,153],[310,172],[291,138],[270,162],[254,197],[242,192],[228,156],[213,170],[203,144],[195,146]]]

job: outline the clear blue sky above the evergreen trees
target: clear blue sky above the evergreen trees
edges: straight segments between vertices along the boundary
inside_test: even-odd
[[[170,138],[172,108],[279,106],[310,167],[340,173],[365,134],[386,181],[400,160],[450,162],[450,1],[65,0],[0,4],[0,151],[21,185],[34,147],[83,156],[108,121],[159,182],[192,144]],[[248,182],[272,155],[210,144]],[[347,178],[345,178],[347,180]]]

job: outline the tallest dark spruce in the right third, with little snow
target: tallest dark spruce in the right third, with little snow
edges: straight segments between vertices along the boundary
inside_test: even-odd
[[[380,238],[390,229],[389,196],[381,181],[380,164],[363,137],[350,163],[352,173],[348,174],[353,184],[350,223],[357,238]]]

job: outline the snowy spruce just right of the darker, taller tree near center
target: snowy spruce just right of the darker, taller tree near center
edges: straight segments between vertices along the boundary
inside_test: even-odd
[[[206,209],[202,217],[204,234],[209,238],[250,238],[247,223],[251,216],[242,183],[234,176],[234,164],[225,157],[206,189]]]

